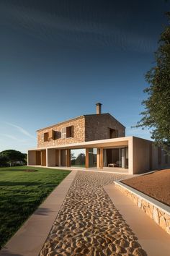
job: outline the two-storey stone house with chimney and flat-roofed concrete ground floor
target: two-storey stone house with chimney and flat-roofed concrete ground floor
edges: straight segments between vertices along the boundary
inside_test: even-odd
[[[139,174],[169,166],[169,156],[153,142],[126,137],[125,127],[109,113],[78,116],[37,130],[37,148],[28,150],[29,166],[121,169]]]

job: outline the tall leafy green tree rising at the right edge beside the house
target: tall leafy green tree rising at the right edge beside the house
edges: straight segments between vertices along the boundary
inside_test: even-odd
[[[161,33],[158,50],[155,53],[156,64],[146,73],[150,85],[144,90],[148,98],[143,101],[145,110],[136,127],[152,129],[151,137],[156,145],[167,152],[170,147],[170,12],[166,13],[168,25]]]

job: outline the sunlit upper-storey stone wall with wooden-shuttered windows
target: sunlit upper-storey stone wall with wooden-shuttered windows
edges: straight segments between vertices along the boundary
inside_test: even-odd
[[[70,121],[65,121],[61,124],[53,125],[52,127],[47,127],[44,129],[40,129],[37,131],[37,148],[46,148],[49,146],[57,146],[57,145],[67,145],[70,143],[84,142],[84,116],[80,116],[79,118],[72,119]],[[73,137],[67,137],[66,139],[61,139],[61,129],[64,127],[73,126]],[[53,138],[48,139],[48,141],[44,141],[44,133],[50,132],[53,129],[55,132],[54,140]]]

